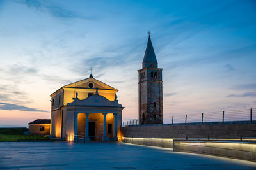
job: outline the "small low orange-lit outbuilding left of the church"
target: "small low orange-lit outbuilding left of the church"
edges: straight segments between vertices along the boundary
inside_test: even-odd
[[[28,123],[29,134],[50,134],[51,119],[36,119]]]

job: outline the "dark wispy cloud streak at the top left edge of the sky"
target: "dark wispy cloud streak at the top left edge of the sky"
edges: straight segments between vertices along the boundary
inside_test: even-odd
[[[52,17],[60,18],[60,19],[73,19],[73,18],[79,18],[79,19],[85,19],[89,20],[90,17],[84,17],[82,15],[79,15],[75,13],[74,11],[65,10],[64,8],[61,8],[60,6],[56,6],[49,1],[37,1],[37,0],[22,0],[22,1],[15,1],[17,3],[22,3],[28,6],[28,8],[32,8],[35,11],[40,11],[43,13],[49,13],[52,15]]]

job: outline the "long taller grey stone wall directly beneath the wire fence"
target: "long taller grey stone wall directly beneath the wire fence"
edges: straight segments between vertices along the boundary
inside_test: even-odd
[[[256,137],[256,124],[130,126],[122,127],[122,136],[179,139]]]

